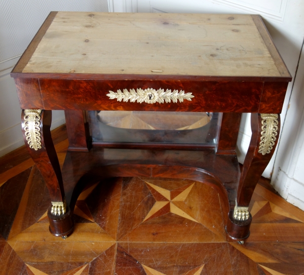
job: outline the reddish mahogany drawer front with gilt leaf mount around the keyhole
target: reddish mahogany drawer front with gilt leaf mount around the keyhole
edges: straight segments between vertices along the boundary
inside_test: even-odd
[[[263,87],[262,82],[60,79],[39,82],[44,108],[53,110],[257,112]]]

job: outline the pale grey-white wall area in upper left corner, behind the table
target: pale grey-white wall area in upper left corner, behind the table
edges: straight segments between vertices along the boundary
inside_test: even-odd
[[[51,11],[103,11],[107,0],[1,0],[0,62],[22,54]]]

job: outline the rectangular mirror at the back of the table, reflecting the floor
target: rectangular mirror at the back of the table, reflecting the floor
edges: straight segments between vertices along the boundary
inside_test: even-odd
[[[88,111],[94,143],[216,144],[219,113]]]

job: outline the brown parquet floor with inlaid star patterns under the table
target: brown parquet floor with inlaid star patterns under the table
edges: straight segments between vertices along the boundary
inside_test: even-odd
[[[61,165],[68,142],[53,131]],[[191,180],[114,178],[83,191],[75,230],[48,230],[50,198],[25,148],[0,159],[0,274],[304,274],[304,212],[265,179],[245,245],[226,241],[218,194]]]

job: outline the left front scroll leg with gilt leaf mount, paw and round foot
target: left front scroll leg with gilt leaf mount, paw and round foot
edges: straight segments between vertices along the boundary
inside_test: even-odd
[[[25,109],[21,115],[25,145],[49,189],[52,205],[48,211],[50,232],[64,237],[71,233],[73,223],[65,196],[59,161],[51,137],[52,111]]]

